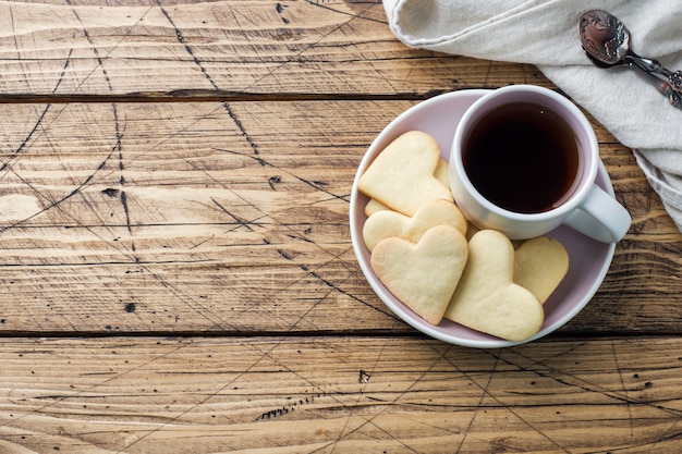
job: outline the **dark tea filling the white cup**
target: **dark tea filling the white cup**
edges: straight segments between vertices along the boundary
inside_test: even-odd
[[[476,189],[510,211],[556,208],[572,191],[579,144],[558,114],[531,102],[484,115],[464,144],[464,170]]]

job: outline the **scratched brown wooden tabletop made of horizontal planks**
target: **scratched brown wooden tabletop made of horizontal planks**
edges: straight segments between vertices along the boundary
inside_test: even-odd
[[[679,453],[682,236],[594,120],[633,224],[556,333],[446,344],[361,272],[376,135],[520,83],[378,0],[0,2],[0,452]]]

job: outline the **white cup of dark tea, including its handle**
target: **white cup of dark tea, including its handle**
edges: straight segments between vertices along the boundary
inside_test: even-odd
[[[575,105],[547,88],[512,85],[483,96],[462,116],[450,185],[480,229],[524,240],[567,224],[616,243],[631,218],[595,184],[598,165],[597,138]]]

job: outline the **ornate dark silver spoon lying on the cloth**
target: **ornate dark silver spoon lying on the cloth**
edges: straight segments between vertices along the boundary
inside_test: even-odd
[[[642,71],[670,103],[682,109],[682,71],[667,70],[654,59],[633,52],[630,32],[612,14],[588,11],[577,23],[581,44],[589,60],[599,68],[626,65]]]

